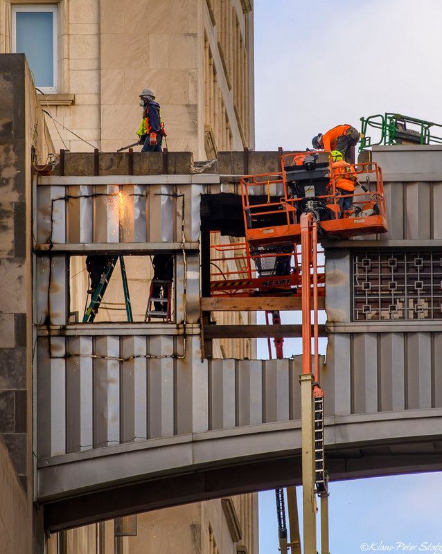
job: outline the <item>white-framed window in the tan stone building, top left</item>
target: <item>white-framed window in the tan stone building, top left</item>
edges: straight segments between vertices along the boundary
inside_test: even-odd
[[[12,7],[12,52],[26,54],[35,86],[57,92],[57,6],[24,4]]]

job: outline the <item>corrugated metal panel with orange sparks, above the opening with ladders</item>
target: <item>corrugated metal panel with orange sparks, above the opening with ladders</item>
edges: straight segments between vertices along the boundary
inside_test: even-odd
[[[181,242],[200,236],[202,185],[37,187],[37,242]]]

